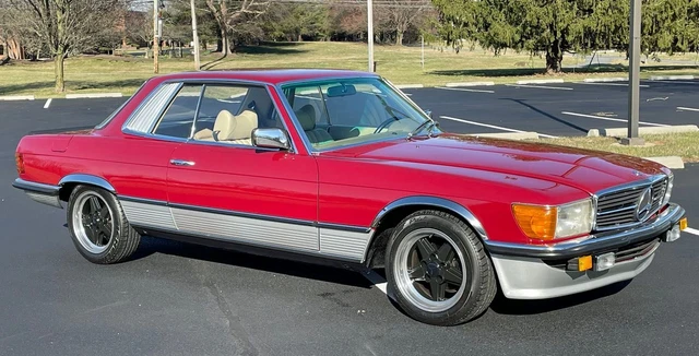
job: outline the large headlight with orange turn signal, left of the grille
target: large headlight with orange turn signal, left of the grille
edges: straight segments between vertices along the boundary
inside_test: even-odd
[[[592,199],[559,206],[513,204],[512,213],[524,235],[540,240],[588,234],[594,221]]]

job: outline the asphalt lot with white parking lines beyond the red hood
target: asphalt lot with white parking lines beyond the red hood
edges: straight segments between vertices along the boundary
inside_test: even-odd
[[[699,80],[642,81],[640,127],[699,123]],[[541,137],[587,135],[591,129],[626,128],[628,83],[508,84],[406,88],[431,109],[447,131],[534,131]]]

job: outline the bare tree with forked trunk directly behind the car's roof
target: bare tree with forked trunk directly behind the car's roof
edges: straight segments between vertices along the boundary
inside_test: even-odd
[[[222,52],[227,56],[230,51],[230,36],[237,27],[251,20],[258,19],[268,10],[271,0],[205,0],[206,8],[212,13],[221,28]],[[242,26],[242,28],[248,28]]]

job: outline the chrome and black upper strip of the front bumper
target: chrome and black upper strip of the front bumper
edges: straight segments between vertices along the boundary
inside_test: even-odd
[[[683,216],[685,216],[685,210],[675,203],[671,203],[655,219],[623,232],[605,232],[591,235],[584,239],[542,246],[498,242],[493,240],[485,240],[484,242],[487,250],[496,254],[552,260],[573,258],[582,254],[613,250],[633,242],[655,238],[670,230]]]

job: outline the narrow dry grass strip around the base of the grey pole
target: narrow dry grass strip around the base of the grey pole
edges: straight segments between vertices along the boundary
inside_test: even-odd
[[[616,138],[559,138],[537,142],[588,150],[609,151],[639,157],[680,156],[684,162],[699,162],[699,132],[641,135],[647,146],[625,146]]]

